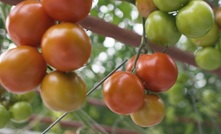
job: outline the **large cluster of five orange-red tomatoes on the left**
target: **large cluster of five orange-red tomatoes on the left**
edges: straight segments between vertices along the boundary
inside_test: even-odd
[[[86,84],[75,70],[88,61],[91,41],[78,24],[92,0],[25,0],[15,5],[6,29],[16,47],[0,57],[0,83],[10,93],[38,89],[44,104],[69,112],[86,99]]]

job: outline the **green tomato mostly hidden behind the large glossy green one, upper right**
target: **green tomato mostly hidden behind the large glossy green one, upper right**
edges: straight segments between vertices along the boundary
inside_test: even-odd
[[[214,45],[218,40],[218,38],[219,38],[219,28],[216,24],[214,24],[206,35],[199,38],[191,38],[190,40],[196,46],[207,47]]]

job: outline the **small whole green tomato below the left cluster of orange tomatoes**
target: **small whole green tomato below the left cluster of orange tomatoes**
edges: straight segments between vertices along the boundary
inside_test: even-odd
[[[25,101],[16,102],[9,108],[9,111],[11,113],[11,120],[16,123],[24,123],[32,115],[31,104]]]

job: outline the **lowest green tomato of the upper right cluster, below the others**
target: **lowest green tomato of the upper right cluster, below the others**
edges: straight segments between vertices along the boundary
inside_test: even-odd
[[[221,66],[221,52],[212,47],[200,49],[195,54],[196,64],[205,70],[215,70]]]

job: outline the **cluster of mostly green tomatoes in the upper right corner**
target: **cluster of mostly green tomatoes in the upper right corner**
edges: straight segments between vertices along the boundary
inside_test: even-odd
[[[174,46],[185,36],[200,48],[195,53],[200,68],[215,70],[221,67],[220,9],[212,8],[203,0],[136,0],[136,6],[146,17],[146,35],[153,44]]]

